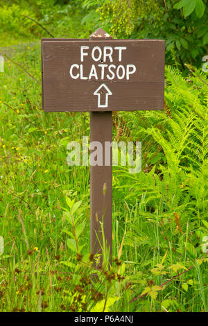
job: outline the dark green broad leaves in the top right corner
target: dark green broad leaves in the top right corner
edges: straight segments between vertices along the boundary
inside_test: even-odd
[[[183,68],[184,62],[193,62],[199,67],[206,53],[207,6],[202,0],[182,0],[175,6],[166,1],[161,10],[162,26],[156,28],[154,34],[166,40],[167,60],[171,62],[172,50]]]

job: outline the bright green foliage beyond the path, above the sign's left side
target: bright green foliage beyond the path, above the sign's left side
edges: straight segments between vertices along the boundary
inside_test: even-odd
[[[85,26],[77,24],[84,15],[86,15],[85,8],[76,1],[64,1],[64,3],[55,0],[21,0],[21,3],[0,1],[0,42],[6,46],[8,42],[16,43],[16,39],[22,42],[28,40],[28,37],[31,40],[51,37],[35,22],[42,24],[56,37],[79,38],[82,35],[88,38],[92,33],[94,22],[88,22]],[[31,17],[35,22],[25,16]]]

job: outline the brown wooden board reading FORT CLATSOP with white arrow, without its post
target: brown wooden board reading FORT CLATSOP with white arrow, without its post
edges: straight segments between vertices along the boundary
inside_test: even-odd
[[[42,103],[46,112],[162,110],[164,41],[43,39]]]

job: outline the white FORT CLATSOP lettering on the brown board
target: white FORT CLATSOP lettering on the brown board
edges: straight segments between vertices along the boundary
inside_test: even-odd
[[[69,69],[69,74],[73,79],[80,80],[130,80],[130,75],[137,71],[135,65],[114,65],[112,62],[121,62],[122,54],[126,46],[94,46],[89,51],[89,46],[80,46],[80,62],[83,64],[73,64]],[[85,71],[84,63],[87,57],[94,62],[101,62],[99,65],[92,65],[89,71]],[[105,63],[107,62],[107,63]],[[110,63],[110,64],[109,64]]]

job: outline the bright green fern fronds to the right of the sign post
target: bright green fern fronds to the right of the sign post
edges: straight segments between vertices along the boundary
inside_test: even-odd
[[[116,185],[117,189],[127,190],[127,200],[134,202],[135,198],[141,198],[147,218],[159,218],[168,227],[168,218],[174,220],[174,214],[177,214],[182,232],[185,232],[188,221],[198,221],[200,226],[200,220],[207,216],[206,83],[205,74],[197,70],[186,79],[173,67],[166,67],[165,111],[161,115],[157,112],[157,118],[155,112],[136,112],[133,121],[131,114],[128,126],[136,139],[141,140],[144,135],[153,137],[153,144],[159,145],[157,151],[164,153],[166,164],[157,154],[157,164],[150,164],[148,159],[146,169],[143,159],[147,172],[129,175],[125,169],[120,169],[123,178],[118,179]],[[125,115],[128,117],[127,113]],[[139,132],[134,130],[138,121]],[[142,151],[146,153],[146,145],[143,146]],[[155,152],[152,146],[147,148],[149,155],[151,151]]]

